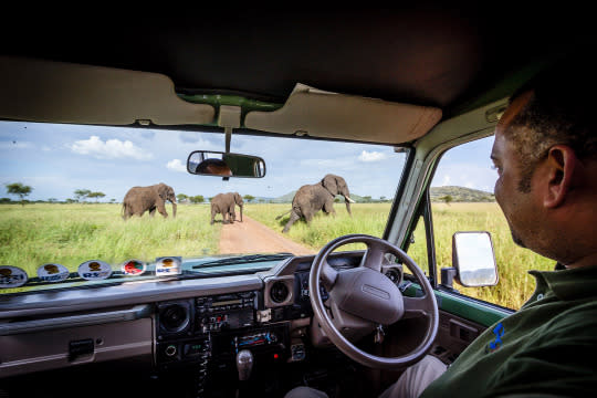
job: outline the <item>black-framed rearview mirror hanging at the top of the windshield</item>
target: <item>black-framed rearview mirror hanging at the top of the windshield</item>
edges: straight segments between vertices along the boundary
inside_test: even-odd
[[[187,171],[200,176],[261,178],[265,160],[258,156],[195,150],[187,159]]]

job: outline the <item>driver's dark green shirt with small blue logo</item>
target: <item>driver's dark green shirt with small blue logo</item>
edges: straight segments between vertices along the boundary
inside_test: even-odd
[[[597,395],[597,266],[530,273],[533,296],[481,334],[421,397]]]

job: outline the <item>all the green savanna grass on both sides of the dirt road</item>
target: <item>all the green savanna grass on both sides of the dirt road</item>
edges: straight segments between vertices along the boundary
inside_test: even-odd
[[[336,203],[336,217],[318,213],[311,227],[297,221],[286,238],[318,250],[325,243],[348,233],[381,237],[390,203],[353,205],[349,217],[344,205]],[[275,217],[290,205],[244,206],[244,213],[281,233],[289,216]],[[171,213],[168,207],[168,212]],[[551,270],[554,262],[516,247],[506,221],[495,203],[436,203],[432,207],[438,266],[451,266],[452,234],[455,231],[492,233],[500,275],[496,286],[467,289],[463,294],[510,308],[519,308],[534,290],[527,270]],[[178,217],[154,219],[145,216],[124,221],[118,205],[4,205],[0,206],[0,264],[18,265],[29,275],[46,262],[76,271],[80,263],[100,259],[119,264],[128,259],[153,261],[163,255],[205,255],[218,252],[221,223],[209,224],[209,206],[178,206]],[[343,250],[364,249],[346,245]],[[415,231],[409,254],[428,272],[422,222]]]

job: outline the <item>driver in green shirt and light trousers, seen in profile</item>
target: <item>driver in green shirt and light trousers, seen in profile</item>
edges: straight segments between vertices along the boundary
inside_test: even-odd
[[[561,64],[511,97],[491,153],[514,242],[556,261],[531,298],[448,368],[432,356],[381,397],[589,397],[597,390],[595,77]],[[586,93],[586,94],[584,94]],[[326,397],[297,387],[290,397]]]

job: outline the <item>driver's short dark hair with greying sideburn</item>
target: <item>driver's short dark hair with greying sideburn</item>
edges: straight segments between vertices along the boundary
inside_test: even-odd
[[[580,159],[597,158],[596,71],[587,60],[563,59],[524,83],[510,103],[526,92],[528,102],[504,132],[522,165],[519,189],[531,189],[531,176],[548,149],[569,146]]]

